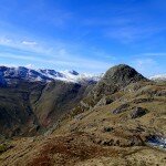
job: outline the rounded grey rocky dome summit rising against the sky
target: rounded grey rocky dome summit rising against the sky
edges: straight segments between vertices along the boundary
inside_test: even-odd
[[[138,81],[147,81],[147,79],[128,65],[115,65],[105,73],[94,87],[93,93],[95,96],[113,94],[129,83]]]

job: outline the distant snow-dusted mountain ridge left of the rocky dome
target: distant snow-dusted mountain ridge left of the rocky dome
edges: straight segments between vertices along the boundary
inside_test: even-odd
[[[10,84],[13,80],[24,80],[29,82],[50,82],[61,80],[65,82],[97,82],[101,75],[80,74],[76,71],[54,71],[54,70],[33,70],[24,66],[8,68],[0,66],[0,84]]]

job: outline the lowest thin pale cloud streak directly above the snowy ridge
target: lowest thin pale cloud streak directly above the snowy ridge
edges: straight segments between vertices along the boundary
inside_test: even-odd
[[[62,51],[63,54],[63,51]],[[101,62],[97,60],[92,59],[84,59],[84,58],[74,58],[69,54],[66,59],[61,58],[53,58],[53,56],[34,56],[34,55],[23,55],[23,54],[11,54],[7,52],[0,52],[1,59],[10,59],[10,60],[17,60],[17,61],[24,61],[30,62],[31,66],[35,63],[44,64],[44,68],[50,68],[50,65],[55,66],[55,70],[59,69],[74,69],[79,71],[91,71],[91,72],[104,72],[110,66],[113,65],[111,62]],[[25,64],[24,64],[25,65]],[[43,68],[43,65],[39,65],[40,68]]]

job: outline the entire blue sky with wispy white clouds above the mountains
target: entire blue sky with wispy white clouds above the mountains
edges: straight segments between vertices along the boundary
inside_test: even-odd
[[[0,0],[0,65],[166,73],[165,0]]]

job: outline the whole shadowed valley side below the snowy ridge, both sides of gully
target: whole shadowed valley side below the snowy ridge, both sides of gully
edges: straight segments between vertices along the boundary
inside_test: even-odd
[[[32,136],[43,133],[73,108],[91,83],[62,81],[27,82],[0,87],[1,136]]]

